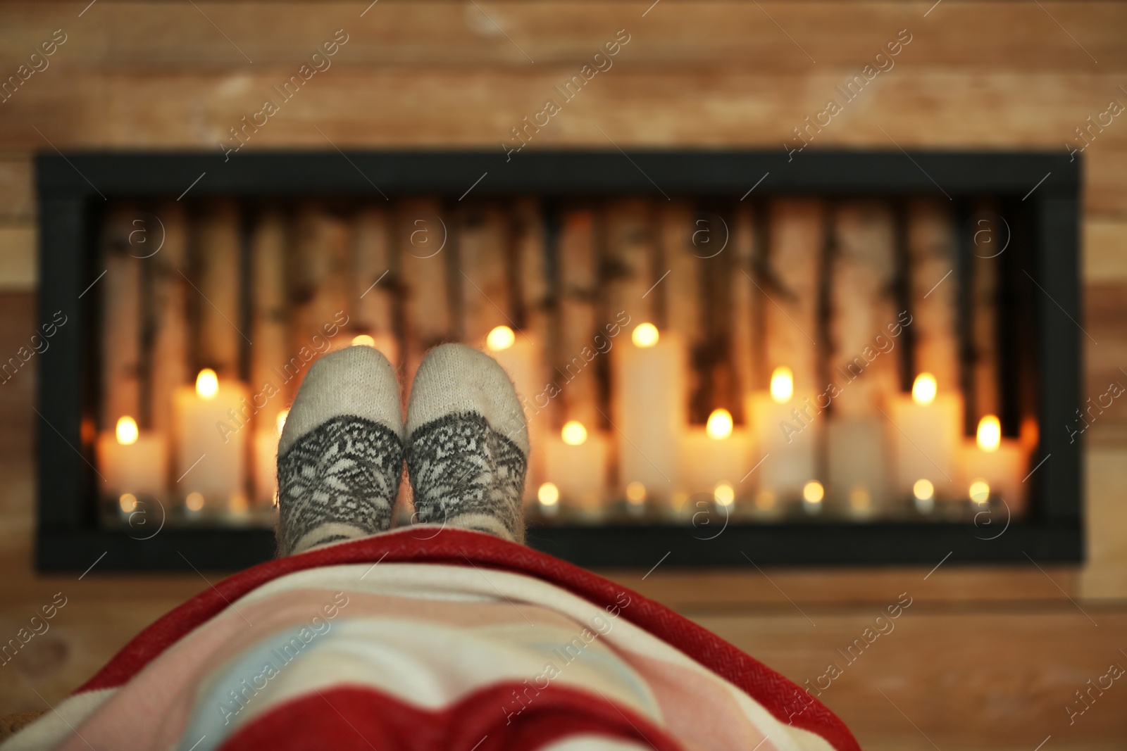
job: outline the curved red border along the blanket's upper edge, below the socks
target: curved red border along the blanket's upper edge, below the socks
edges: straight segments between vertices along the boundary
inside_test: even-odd
[[[838,751],[860,751],[845,724],[809,692],[663,605],[570,563],[490,535],[453,528],[427,539],[417,538],[417,534],[416,529],[405,529],[330,545],[267,561],[228,576],[141,632],[76,694],[123,685],[229,602],[278,576],[350,563],[472,564],[540,579],[600,607],[614,605],[619,593],[625,591],[631,601],[630,607],[622,609],[621,617],[731,681],[781,722],[817,733]]]

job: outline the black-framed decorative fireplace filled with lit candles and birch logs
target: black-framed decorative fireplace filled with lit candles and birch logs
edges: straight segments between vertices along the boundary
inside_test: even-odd
[[[373,346],[409,384],[451,340],[513,377],[531,544],[577,563],[1082,555],[1079,162],[98,153],[37,176],[42,569],[265,560],[312,361]]]

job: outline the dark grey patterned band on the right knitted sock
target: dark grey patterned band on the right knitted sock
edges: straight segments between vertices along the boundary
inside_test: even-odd
[[[514,540],[524,540],[521,498],[527,458],[516,444],[476,412],[446,414],[420,426],[409,444],[407,468],[418,521],[453,524],[462,515],[491,516]],[[485,527],[479,531],[496,534]]]

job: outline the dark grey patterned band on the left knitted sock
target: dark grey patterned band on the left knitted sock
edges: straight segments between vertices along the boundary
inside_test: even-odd
[[[399,436],[364,418],[335,417],[299,438],[278,457],[279,554],[323,524],[390,528],[402,463]]]

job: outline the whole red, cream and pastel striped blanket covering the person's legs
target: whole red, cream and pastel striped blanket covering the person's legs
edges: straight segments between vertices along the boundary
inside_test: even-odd
[[[188,600],[2,746],[48,748],[859,746],[798,686],[637,592],[492,536],[415,527]]]

